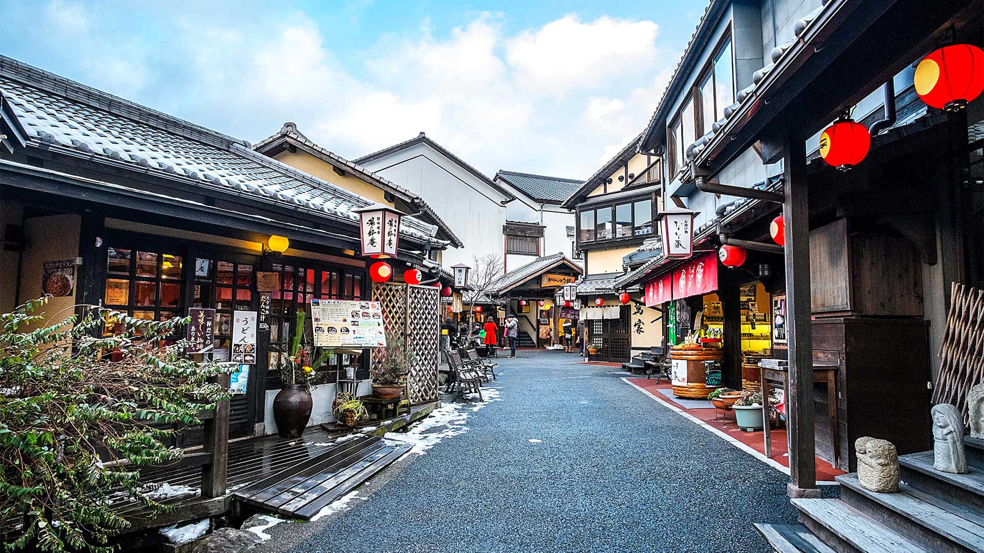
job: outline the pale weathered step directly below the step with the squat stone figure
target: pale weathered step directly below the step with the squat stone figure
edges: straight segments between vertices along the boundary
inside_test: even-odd
[[[800,522],[840,553],[936,553],[839,499],[792,499]]]

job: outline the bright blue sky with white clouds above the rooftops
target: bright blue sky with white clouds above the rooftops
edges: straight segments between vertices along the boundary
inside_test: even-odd
[[[0,54],[256,143],[427,136],[488,175],[586,179],[638,135],[694,2],[0,0]]]

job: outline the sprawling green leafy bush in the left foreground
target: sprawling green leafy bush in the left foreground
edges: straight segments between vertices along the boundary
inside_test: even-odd
[[[108,552],[129,522],[111,500],[151,515],[139,467],[179,460],[165,445],[198,413],[228,399],[209,378],[226,369],[166,345],[188,319],[148,321],[108,309],[42,328],[47,297],[0,315],[0,527],[8,551]],[[104,323],[119,334],[101,336]]]

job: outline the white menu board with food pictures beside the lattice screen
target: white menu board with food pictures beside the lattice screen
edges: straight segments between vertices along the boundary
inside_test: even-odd
[[[378,301],[313,299],[310,305],[316,346],[386,346],[383,308]]]

